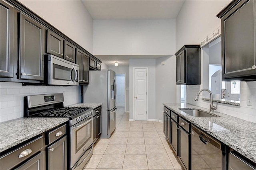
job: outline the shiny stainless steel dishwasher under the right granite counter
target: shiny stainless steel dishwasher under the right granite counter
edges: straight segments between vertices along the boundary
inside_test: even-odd
[[[226,147],[194,125],[191,126],[192,170],[226,170]]]

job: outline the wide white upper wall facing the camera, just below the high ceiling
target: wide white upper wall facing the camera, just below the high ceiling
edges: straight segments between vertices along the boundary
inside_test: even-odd
[[[173,55],[176,20],[93,20],[94,55]]]

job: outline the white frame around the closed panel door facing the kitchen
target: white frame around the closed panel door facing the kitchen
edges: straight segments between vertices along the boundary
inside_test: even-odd
[[[133,98],[133,121],[135,121],[135,69],[138,68],[143,68],[146,69],[146,86],[147,86],[147,94],[146,94],[146,99],[147,99],[147,107],[146,107],[146,113],[147,113],[147,119],[148,121],[148,67],[133,67],[133,93],[132,93],[132,98]]]

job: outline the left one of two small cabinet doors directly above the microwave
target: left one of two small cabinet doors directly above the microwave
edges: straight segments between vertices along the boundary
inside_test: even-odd
[[[46,53],[62,58],[63,57],[63,41],[64,39],[60,37],[60,35],[48,29]]]

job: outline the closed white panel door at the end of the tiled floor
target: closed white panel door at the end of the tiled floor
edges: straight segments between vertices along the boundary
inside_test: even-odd
[[[134,120],[147,120],[147,69],[134,69]]]

